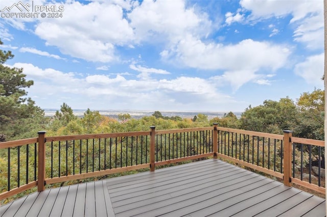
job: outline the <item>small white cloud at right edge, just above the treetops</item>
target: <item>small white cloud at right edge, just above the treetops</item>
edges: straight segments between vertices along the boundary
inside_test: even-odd
[[[308,84],[323,88],[324,54],[308,57],[304,62],[295,65],[294,72],[304,78]]]

